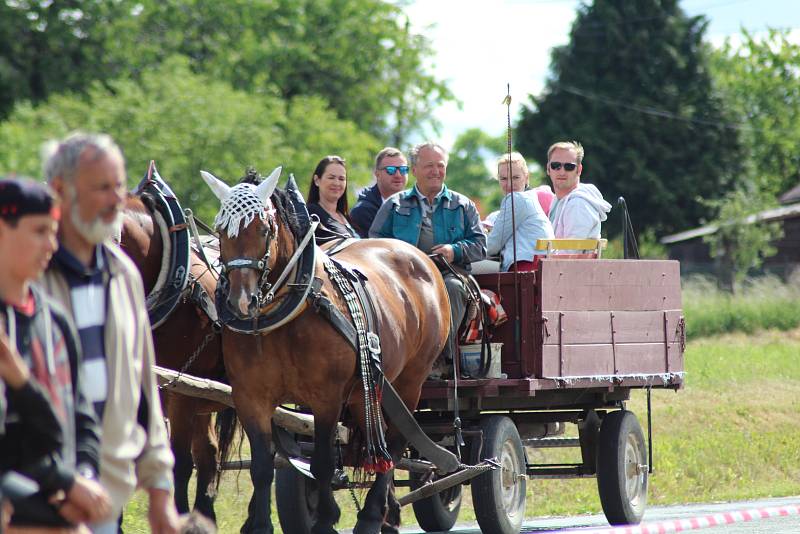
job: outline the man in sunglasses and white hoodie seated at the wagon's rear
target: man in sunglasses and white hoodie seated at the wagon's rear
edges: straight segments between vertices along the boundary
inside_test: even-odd
[[[547,150],[547,176],[556,198],[550,206],[550,221],[556,238],[599,239],[600,223],[611,204],[592,184],[581,183],[583,146],[560,141]]]

